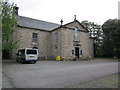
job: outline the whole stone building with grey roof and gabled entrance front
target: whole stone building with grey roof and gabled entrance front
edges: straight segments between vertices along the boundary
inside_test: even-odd
[[[17,16],[18,27],[15,40],[19,48],[37,47],[39,59],[55,59],[62,56],[67,59],[94,57],[93,39],[88,30],[76,18],[65,25],[55,24],[28,17]],[[13,51],[13,58],[15,58]]]

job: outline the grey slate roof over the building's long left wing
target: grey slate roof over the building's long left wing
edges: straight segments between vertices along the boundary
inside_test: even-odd
[[[18,16],[18,26],[52,31],[59,27],[59,24],[51,23],[43,20],[32,19],[28,17]]]

